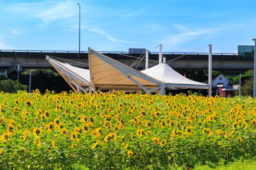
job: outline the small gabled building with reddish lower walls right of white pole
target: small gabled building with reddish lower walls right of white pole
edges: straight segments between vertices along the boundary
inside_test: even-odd
[[[208,83],[208,81],[205,81]],[[212,96],[234,97],[239,85],[228,85],[228,79],[222,75],[212,77]]]

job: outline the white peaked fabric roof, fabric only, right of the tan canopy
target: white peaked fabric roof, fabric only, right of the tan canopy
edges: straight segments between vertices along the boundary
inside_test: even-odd
[[[207,85],[208,86],[208,84],[193,81],[180,75],[178,72],[176,72],[166,63],[155,65],[154,67],[143,70],[141,72],[145,73],[148,76],[154,77],[160,81],[163,81],[166,84]]]

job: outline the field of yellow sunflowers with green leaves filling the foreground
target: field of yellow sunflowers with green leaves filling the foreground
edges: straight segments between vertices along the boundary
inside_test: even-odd
[[[0,93],[0,169],[191,168],[256,155],[256,100]]]

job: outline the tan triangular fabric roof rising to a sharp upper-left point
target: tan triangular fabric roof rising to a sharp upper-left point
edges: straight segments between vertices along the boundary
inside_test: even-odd
[[[91,52],[90,52],[91,51]],[[94,84],[108,84],[108,85],[136,85],[134,81],[123,73],[134,78],[143,86],[158,86],[161,82],[155,78],[145,75],[125,64],[120,63],[106,55],[100,54],[89,48],[89,65],[93,75]],[[136,76],[137,75],[137,76]],[[144,77],[144,78],[142,78]],[[154,80],[154,82],[150,80]]]

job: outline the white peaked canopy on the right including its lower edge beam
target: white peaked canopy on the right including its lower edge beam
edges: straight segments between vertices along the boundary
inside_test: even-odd
[[[190,89],[208,89],[208,84],[190,80],[166,63],[160,63],[149,69],[141,71],[142,73],[154,77],[166,84],[166,88],[190,88]]]

